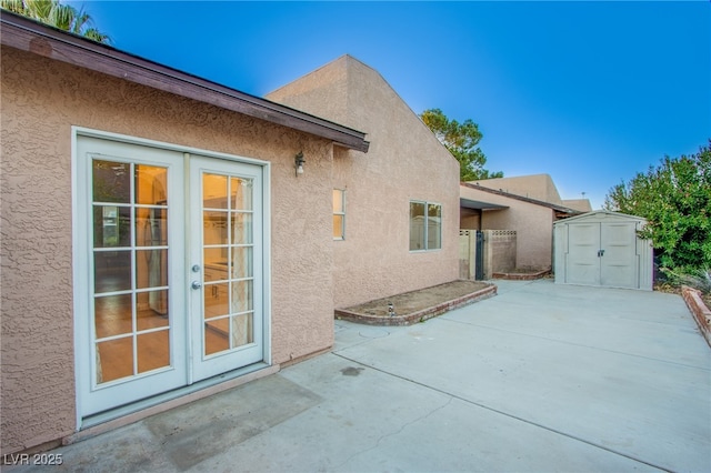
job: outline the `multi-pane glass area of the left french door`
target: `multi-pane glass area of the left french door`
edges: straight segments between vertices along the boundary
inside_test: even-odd
[[[97,384],[170,366],[167,168],[93,160]]]

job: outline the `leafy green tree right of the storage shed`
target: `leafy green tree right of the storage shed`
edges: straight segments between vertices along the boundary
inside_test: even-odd
[[[711,140],[697,154],[665,157],[613,187],[604,207],[648,220],[641,236],[652,240],[662,266],[711,268]]]

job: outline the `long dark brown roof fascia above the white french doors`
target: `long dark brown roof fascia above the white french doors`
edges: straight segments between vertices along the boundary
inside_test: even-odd
[[[2,46],[210,103],[326,138],[344,148],[368,152],[370,143],[365,141],[365,133],[361,131],[220,85],[6,10],[0,10],[0,29]]]

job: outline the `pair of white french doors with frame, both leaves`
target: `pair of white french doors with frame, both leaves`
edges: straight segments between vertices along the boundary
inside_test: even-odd
[[[80,416],[266,359],[263,168],[80,135]]]

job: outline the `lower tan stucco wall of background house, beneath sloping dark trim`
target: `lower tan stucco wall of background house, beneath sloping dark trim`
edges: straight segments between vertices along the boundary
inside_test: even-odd
[[[503,210],[484,210],[480,230],[515,230],[517,265],[534,269],[551,266],[553,210],[464,185],[461,187],[461,197],[507,205],[508,209]],[[467,222],[474,224],[474,219],[478,220],[479,217],[470,217]]]

